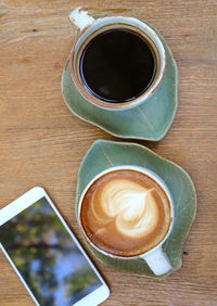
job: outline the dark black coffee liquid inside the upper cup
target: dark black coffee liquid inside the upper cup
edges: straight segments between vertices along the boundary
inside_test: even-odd
[[[95,36],[84,49],[80,75],[86,88],[111,103],[142,94],[156,74],[150,43],[136,31],[113,28]]]

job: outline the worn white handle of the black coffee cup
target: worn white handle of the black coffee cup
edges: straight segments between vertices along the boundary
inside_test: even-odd
[[[89,15],[88,11],[86,11],[81,7],[75,9],[69,14],[69,20],[78,27],[79,30],[82,30],[95,21],[92,16]]]

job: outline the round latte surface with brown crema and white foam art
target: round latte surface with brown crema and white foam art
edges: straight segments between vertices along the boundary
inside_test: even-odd
[[[111,254],[132,256],[164,239],[170,224],[169,202],[148,176],[118,170],[90,187],[82,202],[81,221],[97,246]]]

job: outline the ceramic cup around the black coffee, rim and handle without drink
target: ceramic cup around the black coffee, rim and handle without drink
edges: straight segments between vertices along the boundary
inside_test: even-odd
[[[166,69],[166,54],[164,46],[158,38],[157,34],[144,22],[141,22],[133,17],[124,16],[106,16],[102,18],[93,18],[88,14],[82,8],[75,9],[69,14],[69,20],[77,26],[78,35],[73,43],[69,67],[73,81],[81,93],[82,98],[97,105],[101,109],[108,109],[112,111],[119,111],[126,109],[132,109],[144,101],[155,92],[162,82],[165,69]],[[79,75],[79,59],[81,56],[81,49],[98,34],[106,30],[107,28],[114,27],[126,27],[135,30],[136,33],[142,35],[149,43],[152,46],[155,56],[156,56],[156,75],[150,87],[139,97],[125,103],[110,103],[99,98],[94,97],[88,89],[84,86],[81,77]],[[132,76],[133,78],[133,76]]]

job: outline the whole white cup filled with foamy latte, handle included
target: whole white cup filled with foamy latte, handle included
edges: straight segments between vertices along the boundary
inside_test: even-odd
[[[78,203],[78,222],[89,244],[112,258],[141,258],[155,276],[173,268],[163,244],[174,220],[168,187],[140,166],[116,166],[98,174]]]

